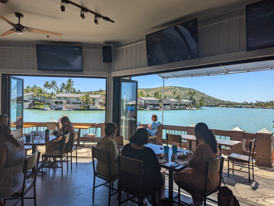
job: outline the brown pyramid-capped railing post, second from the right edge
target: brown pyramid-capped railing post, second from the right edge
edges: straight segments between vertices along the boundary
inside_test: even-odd
[[[231,153],[238,153],[243,155],[244,150],[245,150],[245,140],[244,140],[244,130],[242,130],[240,127],[235,127],[230,132],[230,140],[235,140],[235,141],[241,141],[242,145],[238,145],[235,147],[230,147],[230,152]]]

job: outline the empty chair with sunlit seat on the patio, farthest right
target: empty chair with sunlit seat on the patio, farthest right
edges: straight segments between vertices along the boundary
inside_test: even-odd
[[[239,166],[239,167],[245,167],[245,168],[248,168],[248,172],[246,171],[242,171],[242,170],[236,170],[236,171],[240,171],[240,172],[245,172],[245,173],[248,173],[248,179],[249,179],[249,182],[250,182],[250,162],[252,162],[252,177],[253,177],[253,180],[254,180],[254,166],[253,166],[253,157],[254,157],[254,149],[255,149],[255,144],[256,144],[256,140],[253,139],[249,142],[249,156],[247,155],[240,155],[240,154],[236,154],[236,153],[232,153],[230,155],[227,156],[228,158],[228,172],[227,172],[227,177],[229,177],[229,160],[231,159],[232,160],[232,173],[234,174],[234,161],[236,162],[242,162],[242,163],[247,163],[248,164],[248,167],[247,166],[242,166],[242,165],[236,165],[236,166]],[[251,150],[252,150],[252,155],[251,155]]]

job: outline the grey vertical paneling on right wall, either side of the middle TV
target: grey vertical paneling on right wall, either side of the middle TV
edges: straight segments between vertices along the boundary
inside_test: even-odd
[[[246,10],[237,10],[214,18],[198,20],[199,57],[246,50]],[[142,42],[142,43],[139,43]],[[131,45],[125,47],[127,45]],[[145,38],[113,48],[111,71],[147,66]]]

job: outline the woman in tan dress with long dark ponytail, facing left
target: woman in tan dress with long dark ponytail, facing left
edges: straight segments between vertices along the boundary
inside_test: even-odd
[[[216,138],[205,123],[198,123],[194,128],[195,137],[202,141],[198,144],[193,154],[189,155],[190,169],[174,173],[173,179],[177,185],[188,184],[192,187],[203,189],[206,179],[206,161],[220,156],[220,150],[216,144]],[[207,182],[207,190],[213,190],[219,184],[219,172],[210,174]],[[187,191],[188,192],[188,191]],[[203,200],[202,196],[191,194],[193,204]]]

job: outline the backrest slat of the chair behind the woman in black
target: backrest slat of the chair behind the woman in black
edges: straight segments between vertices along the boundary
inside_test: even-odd
[[[119,167],[121,170],[124,170],[135,175],[144,174],[143,162],[141,160],[124,157],[122,155],[118,155],[118,158]]]

